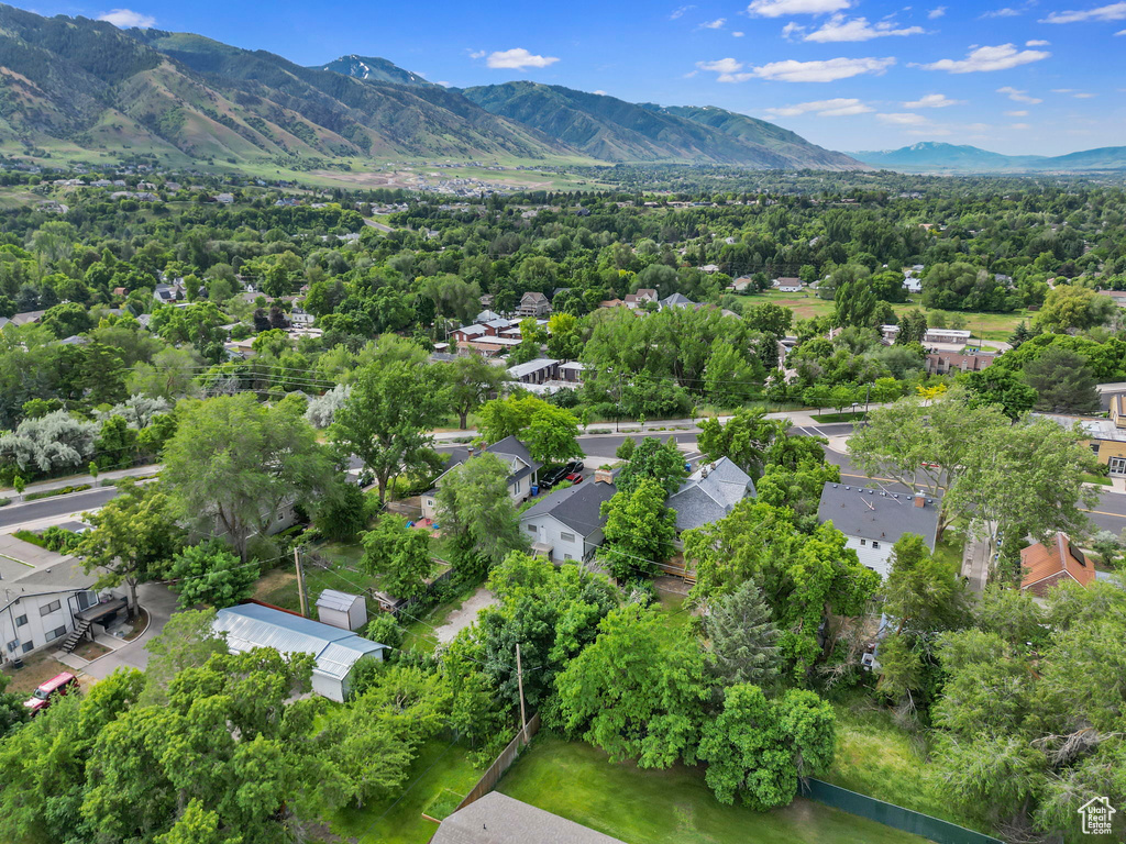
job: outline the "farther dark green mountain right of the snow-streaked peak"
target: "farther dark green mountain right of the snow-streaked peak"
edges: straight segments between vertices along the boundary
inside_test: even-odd
[[[863,170],[792,132],[717,108],[662,108],[538,82],[467,88],[482,108],[605,161]]]

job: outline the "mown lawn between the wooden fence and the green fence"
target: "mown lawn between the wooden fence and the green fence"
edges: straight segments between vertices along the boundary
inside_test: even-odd
[[[626,844],[922,844],[872,820],[796,799],[756,812],[716,801],[698,769],[610,764],[590,745],[540,733],[499,790]]]

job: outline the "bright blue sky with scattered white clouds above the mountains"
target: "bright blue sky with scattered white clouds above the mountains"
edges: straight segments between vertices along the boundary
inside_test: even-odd
[[[529,79],[720,106],[843,151],[1126,145],[1123,0],[127,2],[25,8],[199,33],[300,64],[355,53],[459,87]]]

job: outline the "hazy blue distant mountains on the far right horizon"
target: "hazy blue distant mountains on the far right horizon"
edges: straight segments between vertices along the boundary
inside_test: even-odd
[[[1126,146],[1073,152],[1067,155],[1002,155],[976,146],[927,141],[901,150],[856,152],[873,167],[903,172],[1082,172],[1126,168]]]

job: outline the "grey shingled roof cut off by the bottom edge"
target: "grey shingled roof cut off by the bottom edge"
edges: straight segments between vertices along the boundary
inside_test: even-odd
[[[573,820],[490,791],[441,821],[430,844],[623,844]]]

